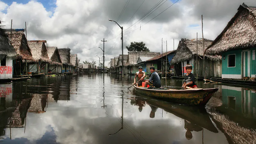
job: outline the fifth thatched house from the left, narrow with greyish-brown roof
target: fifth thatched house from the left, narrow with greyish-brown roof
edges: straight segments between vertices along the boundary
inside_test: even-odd
[[[70,66],[70,49],[69,48],[62,48],[58,49],[60,53],[60,59],[62,62],[62,73],[69,73]]]

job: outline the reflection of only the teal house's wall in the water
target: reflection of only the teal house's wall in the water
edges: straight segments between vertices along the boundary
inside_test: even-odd
[[[223,104],[243,116],[256,118],[256,93],[240,87],[222,85]]]

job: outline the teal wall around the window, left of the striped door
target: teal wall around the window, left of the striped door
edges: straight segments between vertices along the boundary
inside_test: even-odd
[[[230,75],[241,75],[241,52],[242,50],[234,50],[224,52],[222,54],[222,74],[230,74]],[[236,54],[236,67],[228,68],[228,55]],[[225,60],[223,59],[225,57]]]

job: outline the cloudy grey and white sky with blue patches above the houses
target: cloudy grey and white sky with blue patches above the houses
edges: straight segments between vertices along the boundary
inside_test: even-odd
[[[103,60],[98,46],[103,48],[101,40],[105,38],[105,65],[108,66],[110,58],[122,54],[121,29],[108,19],[124,27],[124,54],[127,54],[125,46],[133,41],[143,41],[150,51],[161,52],[162,38],[164,51],[165,41],[170,51],[173,39],[176,49],[180,38],[196,38],[196,32],[201,38],[202,14],[204,38],[214,40],[240,4],[256,6],[255,0],[176,1],[0,0],[0,20],[5,28],[11,27],[11,19],[12,28],[25,28],[26,21],[28,40],[47,40],[49,46],[68,47],[81,61],[94,60],[96,64],[99,61],[96,55]]]

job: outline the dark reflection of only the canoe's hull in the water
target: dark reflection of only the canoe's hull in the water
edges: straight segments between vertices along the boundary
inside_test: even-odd
[[[147,98],[146,96],[141,97],[145,98],[142,100],[145,100],[148,105],[164,109],[166,112],[172,113],[175,116],[189,121],[191,123],[190,125],[194,125],[194,127],[200,126],[211,132],[218,133],[218,130],[212,124],[210,116],[206,112],[205,108],[174,104],[162,100]]]

